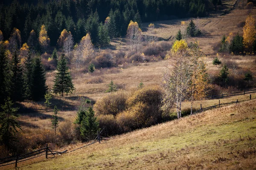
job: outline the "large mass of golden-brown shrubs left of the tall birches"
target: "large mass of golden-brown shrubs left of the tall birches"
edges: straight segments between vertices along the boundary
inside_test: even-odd
[[[94,105],[100,128],[105,127],[105,135],[115,135],[161,122],[161,95],[160,88],[148,87],[103,97]]]

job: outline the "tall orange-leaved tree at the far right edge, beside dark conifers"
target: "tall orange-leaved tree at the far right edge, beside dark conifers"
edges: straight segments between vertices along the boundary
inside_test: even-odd
[[[254,18],[249,15],[246,18],[245,25],[243,28],[244,35],[243,35],[243,44],[248,51],[252,51],[253,43],[255,41],[256,36],[256,28],[255,28],[255,20]]]

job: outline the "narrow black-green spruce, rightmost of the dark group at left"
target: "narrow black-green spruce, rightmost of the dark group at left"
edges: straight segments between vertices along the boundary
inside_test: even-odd
[[[36,57],[32,71],[32,99],[38,101],[47,91],[44,67],[40,57]]]

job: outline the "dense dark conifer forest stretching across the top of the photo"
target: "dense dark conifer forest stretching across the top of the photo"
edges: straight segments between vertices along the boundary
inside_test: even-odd
[[[0,6],[0,30],[6,40],[12,29],[18,28],[22,32],[22,42],[26,42],[32,30],[38,38],[44,25],[51,46],[57,44],[63,29],[73,34],[75,42],[90,32],[93,44],[96,44],[99,41],[97,32],[105,20],[108,36],[113,38],[126,34],[130,20],[141,23],[169,19],[174,15],[203,17],[212,9],[212,3],[207,0],[59,0],[47,3],[39,0],[20,4],[13,0]]]

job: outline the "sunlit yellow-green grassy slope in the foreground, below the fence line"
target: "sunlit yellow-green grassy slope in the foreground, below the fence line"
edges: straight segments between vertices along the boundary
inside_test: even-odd
[[[20,169],[255,169],[255,106],[206,111]]]

